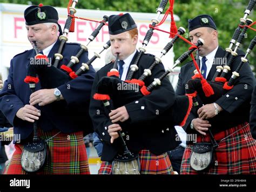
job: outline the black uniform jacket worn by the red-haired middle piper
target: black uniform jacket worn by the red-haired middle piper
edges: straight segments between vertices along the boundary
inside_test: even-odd
[[[137,55],[138,52],[134,55],[131,64]],[[152,55],[144,54],[139,60],[139,69],[134,73],[133,78],[138,79],[143,74],[144,69],[149,68],[153,62],[154,57]],[[96,73],[92,86],[92,96],[96,93],[98,81],[101,77],[106,76],[107,72],[112,68],[113,63],[110,63]],[[152,75],[146,78],[145,85],[149,86],[154,78],[160,77],[164,72],[163,64],[159,63],[152,70]],[[161,86],[154,89],[150,95],[138,99],[137,102],[134,101],[125,105],[130,118],[121,127],[126,134],[124,139],[130,151],[138,152],[139,150],[146,149],[154,154],[161,154],[171,150],[180,143],[180,141],[176,141],[177,132],[174,126],[166,125],[165,122],[158,119],[159,115],[157,115],[158,112],[161,114],[167,108],[170,108],[174,103],[174,98],[175,94],[171,83],[165,78],[161,82]],[[98,133],[100,139],[104,141],[102,160],[112,161],[120,150],[120,138],[114,140],[113,144],[110,144],[111,137],[107,132],[107,127],[112,123],[109,115],[104,111],[102,102],[91,99],[90,116],[95,131]]]

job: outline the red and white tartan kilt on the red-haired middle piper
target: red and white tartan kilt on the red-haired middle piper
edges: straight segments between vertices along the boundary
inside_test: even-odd
[[[149,150],[139,151],[140,174],[173,174],[171,161],[167,153],[155,155]],[[112,162],[103,161],[98,174],[110,175]]]

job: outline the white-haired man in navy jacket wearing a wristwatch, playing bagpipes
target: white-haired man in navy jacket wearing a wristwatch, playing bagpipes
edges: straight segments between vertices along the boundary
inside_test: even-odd
[[[61,45],[59,40],[58,12],[48,5],[31,5],[24,11],[28,40],[36,41],[38,51],[55,61]],[[67,65],[71,56],[76,55],[80,45],[65,42],[58,65]],[[31,94],[29,85],[24,82],[33,65],[35,49],[20,53],[11,60],[8,79],[0,93],[0,109],[11,124],[14,134],[19,134],[21,143],[15,143],[15,152],[5,174],[27,174],[21,165],[23,145],[33,138],[33,122],[38,120],[38,137],[47,140],[48,159],[38,171],[43,174],[90,174],[83,133],[91,129],[87,108],[95,70],[89,67],[87,73],[66,83],[58,83],[49,73],[42,73],[40,83]],[[73,66],[76,71],[88,61],[88,52],[79,56]],[[50,79],[58,84],[53,89],[43,89],[42,82]],[[49,85],[48,85],[49,86]],[[33,167],[33,161],[30,163]]]

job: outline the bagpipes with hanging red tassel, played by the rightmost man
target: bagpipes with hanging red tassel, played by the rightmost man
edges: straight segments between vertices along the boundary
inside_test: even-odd
[[[198,67],[198,63],[193,60],[194,65],[196,66],[196,70],[194,71],[195,75],[192,77],[191,80],[187,82],[186,87],[186,95],[190,95],[193,97],[193,106],[196,107],[196,110],[199,109],[198,98],[203,104],[210,104],[214,103],[219,99],[221,96],[225,95],[229,90],[233,88],[235,85],[236,80],[239,78],[239,71],[247,62],[247,56],[251,53],[255,42],[256,37],[254,37],[248,46],[246,51],[246,55],[241,57],[241,62],[237,69],[232,72],[232,76],[229,80],[226,79],[227,74],[231,71],[232,63],[235,57],[238,55],[238,49],[242,44],[242,41],[245,39],[246,31],[248,28],[251,28],[253,23],[251,19],[248,19],[247,16],[250,14],[253,6],[255,4],[254,0],[251,0],[248,4],[245,15],[243,18],[240,19],[240,24],[238,25],[237,29],[235,30],[232,39],[230,40],[230,46],[226,48],[226,53],[223,59],[227,60],[225,66],[217,66],[217,70],[213,76],[211,81],[206,81],[204,77],[201,75],[201,72]],[[233,45],[235,45],[234,49],[232,50]],[[200,60],[199,60],[200,62]],[[207,88],[205,88],[207,87]],[[239,112],[229,113],[227,111],[221,111],[220,115],[214,116],[209,120],[212,126],[223,125],[226,127],[233,127],[237,125],[239,122]]]

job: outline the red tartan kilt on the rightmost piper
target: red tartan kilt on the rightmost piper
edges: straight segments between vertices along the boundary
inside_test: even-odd
[[[237,130],[239,131],[234,133]],[[232,133],[234,133],[232,136],[220,141]],[[193,145],[187,145],[181,162],[180,174],[256,174],[256,140],[252,138],[248,123],[216,133],[214,138],[219,144],[214,152],[214,165],[205,172],[193,170],[190,167]],[[208,134],[206,136],[198,134],[197,142],[210,143],[211,139]]]

